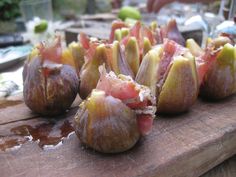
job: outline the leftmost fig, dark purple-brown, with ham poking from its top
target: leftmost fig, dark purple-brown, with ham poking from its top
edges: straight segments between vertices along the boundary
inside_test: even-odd
[[[29,55],[23,69],[23,94],[33,112],[52,116],[71,106],[79,80],[75,68],[67,62],[62,59],[59,37],[52,44],[41,43]]]

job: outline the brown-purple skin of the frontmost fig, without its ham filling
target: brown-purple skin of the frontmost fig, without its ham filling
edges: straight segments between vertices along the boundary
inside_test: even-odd
[[[140,138],[136,115],[121,100],[93,90],[75,115],[75,132],[80,141],[102,153],[119,153],[132,148]]]

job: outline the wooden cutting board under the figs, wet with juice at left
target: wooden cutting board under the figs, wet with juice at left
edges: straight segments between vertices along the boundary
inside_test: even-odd
[[[158,115],[150,135],[115,155],[80,144],[71,127],[78,102],[54,119],[32,114],[17,99],[0,104],[0,176],[191,177],[236,154],[236,96]]]

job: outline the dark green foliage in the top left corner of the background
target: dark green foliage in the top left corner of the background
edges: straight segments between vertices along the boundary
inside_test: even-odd
[[[0,0],[0,21],[12,20],[20,16],[20,0]]]

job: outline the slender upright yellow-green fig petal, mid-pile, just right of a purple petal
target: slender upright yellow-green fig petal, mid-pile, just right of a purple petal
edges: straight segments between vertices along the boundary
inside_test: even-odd
[[[136,76],[139,68],[139,47],[135,37],[130,37],[125,46],[125,58]]]

